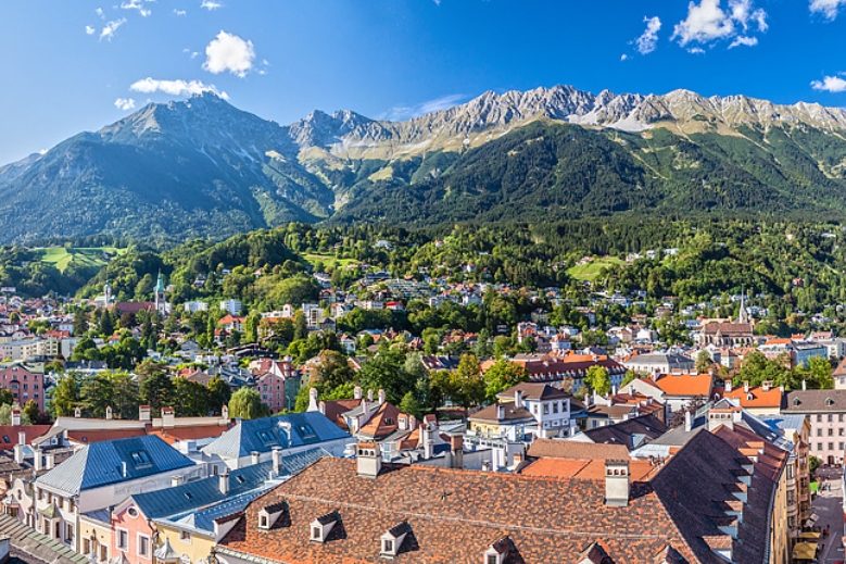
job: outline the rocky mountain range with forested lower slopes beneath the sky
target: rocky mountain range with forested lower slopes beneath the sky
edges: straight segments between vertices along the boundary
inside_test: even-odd
[[[845,172],[846,111],[819,104],[556,86],[405,122],[315,111],[279,125],[205,93],[0,167],[0,241],[219,239],[291,221],[835,217]]]

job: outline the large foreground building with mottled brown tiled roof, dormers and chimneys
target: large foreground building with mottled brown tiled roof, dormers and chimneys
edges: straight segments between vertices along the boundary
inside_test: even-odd
[[[628,460],[604,461],[586,478],[525,476],[382,464],[378,447],[358,443],[356,460],[321,459],[256,498],[214,556],[220,564],[786,563],[786,536],[769,526],[780,516],[779,482],[770,472],[749,474],[746,466],[761,463],[728,433],[697,435],[644,480],[632,479]]]

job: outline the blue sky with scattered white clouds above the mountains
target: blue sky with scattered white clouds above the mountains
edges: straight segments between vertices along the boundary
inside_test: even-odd
[[[0,164],[213,90],[287,124],[487,90],[846,106],[846,0],[2,0]]]

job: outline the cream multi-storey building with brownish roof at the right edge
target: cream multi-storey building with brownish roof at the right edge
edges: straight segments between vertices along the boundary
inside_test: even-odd
[[[843,464],[846,449],[846,390],[791,390],[783,415],[805,415],[810,424],[811,455],[823,464]]]

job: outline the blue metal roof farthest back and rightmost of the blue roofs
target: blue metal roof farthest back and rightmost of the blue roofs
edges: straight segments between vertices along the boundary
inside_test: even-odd
[[[274,447],[290,449],[349,438],[351,437],[348,433],[339,429],[323,413],[293,413],[277,417],[242,421],[203,448],[203,452],[227,458],[240,458],[247,456],[251,452],[270,452]]]

